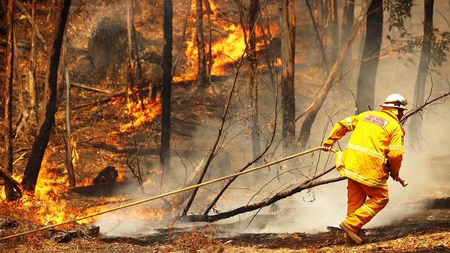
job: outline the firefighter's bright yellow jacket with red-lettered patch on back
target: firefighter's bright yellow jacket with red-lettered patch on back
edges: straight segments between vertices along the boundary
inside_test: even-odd
[[[397,116],[382,109],[345,118],[334,125],[325,144],[334,144],[350,131],[345,151],[336,154],[336,169],[364,185],[388,189],[386,163],[391,173],[398,175],[404,153],[404,130]]]

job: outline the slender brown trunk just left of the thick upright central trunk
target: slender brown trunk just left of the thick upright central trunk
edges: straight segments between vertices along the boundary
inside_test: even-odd
[[[206,0],[208,1],[208,0]],[[258,62],[256,61],[256,35],[255,28],[258,25],[258,12],[260,11],[259,0],[251,0],[249,9],[249,24],[251,32],[249,45],[250,60],[250,100],[251,100],[251,145],[253,147],[253,158],[260,156],[260,133],[258,131]],[[253,32],[252,32],[253,30]]]

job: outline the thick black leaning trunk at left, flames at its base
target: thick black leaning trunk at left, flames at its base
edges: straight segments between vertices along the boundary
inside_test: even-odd
[[[42,123],[39,127],[39,133],[33,143],[33,149],[31,149],[30,158],[26,163],[24,171],[24,178],[21,184],[28,191],[34,191],[37,176],[41,169],[42,158],[47,148],[48,139],[50,137],[51,127],[55,122],[56,111],[56,93],[57,93],[57,71],[60,62],[62,38],[64,37],[64,30],[66,28],[67,17],[69,16],[69,8],[71,6],[71,0],[64,0],[60,8],[57,8],[58,17],[55,26],[55,32],[53,32],[53,47],[50,52],[48,72],[46,73],[45,82],[45,99],[46,105],[45,117],[42,119]]]

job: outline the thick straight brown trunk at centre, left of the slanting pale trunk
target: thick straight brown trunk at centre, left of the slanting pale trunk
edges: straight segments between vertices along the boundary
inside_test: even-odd
[[[295,95],[294,95],[294,59],[296,50],[296,17],[294,0],[281,1],[281,107],[282,107],[282,138],[285,148],[295,149]],[[288,150],[288,149],[287,149]]]

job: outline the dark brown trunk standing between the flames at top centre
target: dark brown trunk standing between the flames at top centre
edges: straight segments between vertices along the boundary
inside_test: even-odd
[[[203,4],[201,0],[197,0],[197,52],[199,66],[197,68],[197,81],[199,86],[204,88],[208,84],[208,75],[206,73],[206,52],[205,52],[205,36],[203,33]]]

